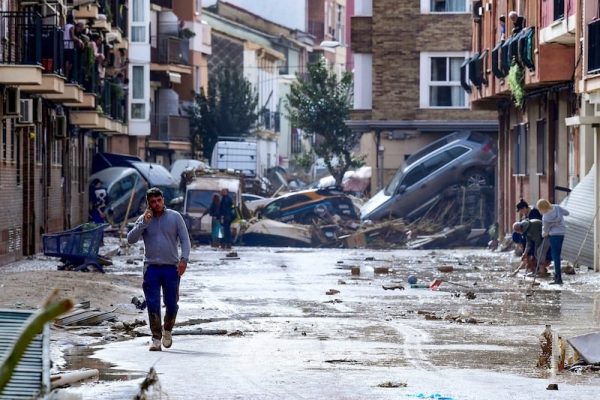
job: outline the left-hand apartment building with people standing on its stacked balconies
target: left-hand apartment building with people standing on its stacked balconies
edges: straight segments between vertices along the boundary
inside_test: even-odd
[[[91,157],[127,130],[122,5],[0,2],[0,264],[88,219]]]

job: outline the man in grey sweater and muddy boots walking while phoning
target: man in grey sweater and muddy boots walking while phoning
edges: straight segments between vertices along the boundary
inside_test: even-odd
[[[148,208],[140,216],[127,242],[134,244],[144,239],[144,295],[148,306],[148,320],[152,332],[150,351],[161,351],[173,344],[173,326],[179,306],[179,280],[185,273],[190,256],[190,237],[183,217],[165,207],[165,198],[158,188],[146,192]],[[181,257],[177,245],[181,245]],[[160,291],[166,307],[164,324],[160,315]]]

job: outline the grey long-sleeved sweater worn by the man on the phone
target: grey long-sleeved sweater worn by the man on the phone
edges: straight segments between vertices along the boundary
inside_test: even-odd
[[[144,239],[144,264],[172,264],[177,265],[179,255],[177,242],[181,244],[181,258],[190,257],[190,236],[177,211],[165,209],[160,217],[152,217],[149,223],[144,223],[141,215],[131,231],[127,234],[127,242],[133,244]]]

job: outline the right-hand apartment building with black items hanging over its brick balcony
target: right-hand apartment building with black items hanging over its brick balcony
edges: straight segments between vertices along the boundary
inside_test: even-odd
[[[474,54],[461,83],[473,109],[497,111],[501,232],[510,232],[519,199],[558,203],[593,162],[581,153],[590,136],[565,124],[578,108],[575,3],[474,2]]]

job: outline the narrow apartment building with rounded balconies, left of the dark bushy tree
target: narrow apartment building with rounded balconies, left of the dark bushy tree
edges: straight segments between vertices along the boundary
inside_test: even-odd
[[[192,154],[186,108],[208,82],[210,27],[202,23],[202,2],[150,1],[148,161],[170,166]]]

